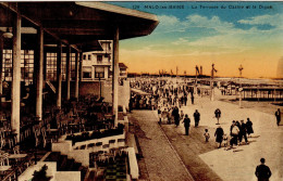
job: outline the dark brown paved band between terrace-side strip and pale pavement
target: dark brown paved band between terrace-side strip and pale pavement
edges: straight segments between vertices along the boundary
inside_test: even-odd
[[[189,135],[184,135],[185,129],[183,125],[179,128],[176,128],[175,125],[162,125],[161,127],[195,181],[222,181],[199,157],[200,154],[216,150],[213,140],[205,142],[204,130],[208,127],[201,126],[197,129],[192,128]]]

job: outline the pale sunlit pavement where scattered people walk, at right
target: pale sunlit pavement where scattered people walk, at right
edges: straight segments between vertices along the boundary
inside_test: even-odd
[[[185,114],[188,114],[190,118],[193,117],[195,109],[200,112],[200,128],[209,128],[210,135],[212,135],[210,142],[214,142],[213,134],[217,128],[217,119],[213,118],[213,113],[216,108],[220,108],[222,112],[220,124],[225,133],[230,133],[232,120],[245,119],[246,121],[246,118],[249,117],[254,122],[255,134],[249,139],[249,145],[241,145],[235,150],[224,151],[224,148],[214,148],[209,152],[198,152],[199,157],[204,163],[206,163],[206,165],[209,166],[222,180],[256,181],[255,168],[259,165],[259,159],[264,157],[267,160],[266,164],[272,171],[270,180],[282,181],[283,127],[278,127],[275,125],[274,115],[259,112],[254,108],[238,108],[238,105],[226,102],[211,102],[208,98],[198,98],[195,100],[195,105],[189,105],[182,109]],[[182,133],[184,133],[183,129],[184,128],[177,128],[176,132],[182,135]],[[192,127],[192,134],[194,133],[193,131],[198,132],[196,129],[199,128]],[[192,172],[192,174],[194,173]]]

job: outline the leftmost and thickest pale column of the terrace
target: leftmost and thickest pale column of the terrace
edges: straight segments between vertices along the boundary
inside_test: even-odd
[[[21,24],[20,14],[16,14],[13,27],[13,78],[11,90],[11,127],[20,142],[20,108],[21,108]]]

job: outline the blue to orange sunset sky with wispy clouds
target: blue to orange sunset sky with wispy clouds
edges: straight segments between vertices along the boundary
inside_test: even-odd
[[[210,75],[213,63],[219,77],[238,77],[239,65],[243,77],[282,76],[283,2],[111,3],[156,14],[160,22],[149,36],[120,41],[120,62],[130,73],[175,74],[177,67],[179,74],[195,75],[198,65]]]

